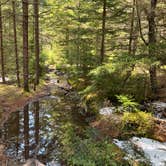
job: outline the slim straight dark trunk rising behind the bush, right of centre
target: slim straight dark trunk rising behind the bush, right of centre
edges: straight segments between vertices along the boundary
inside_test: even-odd
[[[103,16],[102,16],[102,38],[101,38],[101,52],[100,52],[100,63],[102,64],[105,57],[105,34],[106,34],[106,5],[107,0],[103,0]]]

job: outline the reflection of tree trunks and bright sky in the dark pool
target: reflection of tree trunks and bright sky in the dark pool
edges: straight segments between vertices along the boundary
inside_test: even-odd
[[[52,111],[52,106],[46,101],[31,103],[23,111],[12,113],[0,129],[0,140],[5,142],[7,156],[19,161],[28,158],[49,161],[56,142],[52,133],[55,127],[52,128],[50,120]]]

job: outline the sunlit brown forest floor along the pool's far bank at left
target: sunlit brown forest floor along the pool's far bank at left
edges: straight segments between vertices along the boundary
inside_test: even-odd
[[[0,84],[0,110],[16,110],[27,102],[48,95],[48,83],[42,83],[36,91],[24,92],[14,85]]]

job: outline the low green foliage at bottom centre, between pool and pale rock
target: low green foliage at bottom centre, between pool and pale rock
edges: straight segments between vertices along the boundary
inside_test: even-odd
[[[115,145],[109,139],[97,140],[94,129],[87,129],[84,136],[76,134],[73,126],[65,127],[62,141],[62,159],[70,166],[120,166]]]

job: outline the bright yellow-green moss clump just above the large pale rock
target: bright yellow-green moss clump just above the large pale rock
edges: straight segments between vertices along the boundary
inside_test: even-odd
[[[123,131],[132,135],[147,136],[153,128],[153,118],[150,113],[125,112],[122,118]]]

